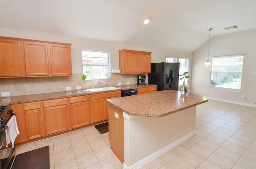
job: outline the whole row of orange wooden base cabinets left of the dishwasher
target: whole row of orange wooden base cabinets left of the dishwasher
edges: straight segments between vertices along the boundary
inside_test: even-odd
[[[121,91],[74,96],[38,102],[12,104],[22,143],[108,119],[107,99],[121,97]]]

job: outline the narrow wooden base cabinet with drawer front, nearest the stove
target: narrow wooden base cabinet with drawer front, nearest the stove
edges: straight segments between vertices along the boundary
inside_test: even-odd
[[[40,102],[24,103],[28,140],[44,136]]]

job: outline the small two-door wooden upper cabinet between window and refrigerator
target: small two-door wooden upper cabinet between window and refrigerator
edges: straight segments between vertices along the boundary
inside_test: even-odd
[[[150,73],[151,53],[122,49],[119,51],[121,74]]]

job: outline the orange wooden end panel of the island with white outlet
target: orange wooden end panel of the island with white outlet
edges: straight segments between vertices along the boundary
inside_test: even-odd
[[[124,161],[124,117],[123,112],[109,104],[108,112],[109,140],[111,149],[118,156],[118,159]],[[118,118],[115,117],[118,114]]]

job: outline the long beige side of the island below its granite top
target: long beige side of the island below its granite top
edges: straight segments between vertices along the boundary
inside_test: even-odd
[[[124,118],[124,164],[133,168],[135,163],[195,130],[196,106],[162,118]]]

